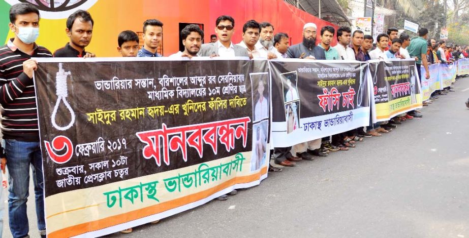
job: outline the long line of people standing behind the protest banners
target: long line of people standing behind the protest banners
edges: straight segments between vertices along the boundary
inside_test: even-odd
[[[2,105],[1,129],[4,146],[0,147],[2,169],[9,171],[8,213],[10,230],[13,237],[28,237],[29,225],[26,214],[26,201],[29,186],[29,167],[33,170],[35,187],[36,213],[40,234],[45,236],[44,218],[44,178],[42,156],[39,144],[38,115],[36,95],[33,84],[33,72],[37,62],[32,57],[95,57],[85,48],[90,44],[93,19],[91,15],[78,10],[67,19],[66,34],[70,38],[65,47],[53,54],[46,48],[35,44],[39,36],[39,11],[31,4],[21,3],[10,9],[9,27],[15,33],[8,43],[0,48],[0,104]],[[376,47],[373,37],[362,31],[351,30],[342,26],[335,30],[332,26],[318,29],[314,23],[306,23],[302,29],[302,41],[289,45],[287,33],[274,33],[274,26],[269,22],[249,20],[242,26],[242,41],[232,42],[235,20],[230,16],[220,16],[215,21],[215,34],[210,35],[211,42],[203,44],[204,32],[198,25],[187,25],[180,32],[183,51],[175,52],[170,57],[249,57],[249,58],[297,58],[315,60],[358,60],[415,58],[419,77],[429,78],[428,65],[432,63],[451,63],[469,56],[467,47],[446,44],[445,41],[428,39],[428,30],[420,28],[418,36],[410,38],[406,33],[398,34],[397,28],[389,28],[377,37]],[[316,44],[317,31],[320,43]],[[331,46],[333,39],[337,45]],[[161,57],[158,48],[163,39],[163,22],[149,19],[143,23],[143,48],[139,49],[139,37],[130,30],[122,31],[117,37],[117,51],[123,57]],[[374,48],[374,49],[373,49]],[[421,74],[420,66],[426,70]],[[441,94],[452,91],[450,88],[437,91],[424,103],[428,105]],[[419,110],[402,113],[388,122],[372,124],[366,128],[357,128],[345,133],[332,135],[297,144],[293,147],[274,148],[274,163],[292,167],[295,163],[325,157],[333,151],[347,151],[356,147],[365,137],[382,136],[390,133],[397,125],[414,117],[422,117]],[[281,167],[269,166],[269,171],[280,172]],[[1,189],[0,189],[1,190]],[[217,197],[227,200],[228,195],[235,195],[235,189]],[[156,223],[154,221],[152,223]],[[132,228],[121,231],[132,232]]]

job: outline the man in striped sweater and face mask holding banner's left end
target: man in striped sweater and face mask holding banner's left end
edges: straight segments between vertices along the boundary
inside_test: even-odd
[[[13,237],[27,237],[29,232],[26,201],[29,190],[29,167],[33,170],[36,214],[41,236],[45,237],[44,177],[39,144],[38,114],[32,57],[51,57],[46,48],[34,42],[39,36],[39,10],[20,3],[10,8],[10,30],[15,37],[0,47],[0,105],[9,172],[8,213]]]

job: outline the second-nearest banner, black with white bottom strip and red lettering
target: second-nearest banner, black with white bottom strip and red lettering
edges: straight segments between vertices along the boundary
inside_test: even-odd
[[[274,147],[368,126],[367,63],[287,59],[269,65]]]

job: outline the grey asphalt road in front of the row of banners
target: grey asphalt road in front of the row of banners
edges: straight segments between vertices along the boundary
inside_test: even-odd
[[[469,237],[469,78],[453,89],[423,108],[423,118],[351,151],[299,162],[227,201],[106,237]],[[28,214],[38,237],[32,199]],[[8,224],[3,234],[11,237]]]

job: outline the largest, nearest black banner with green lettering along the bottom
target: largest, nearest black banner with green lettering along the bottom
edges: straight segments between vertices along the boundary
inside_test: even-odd
[[[267,177],[267,61],[37,60],[48,237],[109,234]]]

